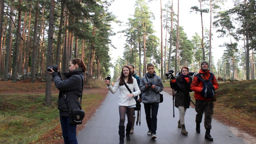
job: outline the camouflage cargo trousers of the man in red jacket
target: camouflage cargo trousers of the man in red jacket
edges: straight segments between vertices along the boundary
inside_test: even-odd
[[[204,113],[204,128],[212,129],[213,101],[196,100],[196,112],[196,123],[202,122]]]

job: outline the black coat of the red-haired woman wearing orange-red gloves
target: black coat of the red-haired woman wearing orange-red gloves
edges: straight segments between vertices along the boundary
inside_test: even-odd
[[[190,89],[190,85],[192,83],[192,78],[189,76],[189,82],[187,83],[186,81],[182,82],[181,77],[178,76],[176,78],[176,82],[180,85],[180,87],[182,88],[182,90],[185,94],[180,90],[180,87],[176,83],[170,82],[171,88],[176,91],[174,106],[177,108],[178,108],[178,106],[181,106],[184,108],[189,108],[189,106],[190,106],[189,92],[192,92]]]

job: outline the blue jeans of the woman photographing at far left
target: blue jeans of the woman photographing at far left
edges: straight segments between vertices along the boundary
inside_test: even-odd
[[[65,144],[78,144],[76,139],[76,125],[69,124],[68,116],[60,116],[60,125]]]

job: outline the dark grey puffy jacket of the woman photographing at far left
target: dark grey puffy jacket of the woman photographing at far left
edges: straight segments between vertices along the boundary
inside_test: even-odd
[[[80,76],[82,76],[83,80]],[[79,109],[80,101],[79,97],[82,95],[82,82],[84,82],[84,72],[70,72],[68,79],[62,81],[61,76],[53,72],[53,81],[59,92],[58,109],[60,110],[60,116],[69,116],[66,102],[63,98],[65,95],[67,98],[67,104],[69,109]]]

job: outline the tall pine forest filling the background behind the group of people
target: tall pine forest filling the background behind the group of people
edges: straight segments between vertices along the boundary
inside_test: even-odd
[[[148,4],[159,3],[161,37],[154,35],[154,13]],[[231,0],[229,0],[231,1]],[[188,39],[183,23],[179,22],[180,0],[136,0],[133,15],[122,23],[109,10],[114,0],[0,0],[0,75],[12,83],[17,78],[46,75],[47,67],[57,65],[68,72],[69,60],[81,58],[86,67],[86,78],[104,80],[114,69],[113,81],[124,65],[134,64],[141,78],[147,73],[148,63],[155,65],[156,74],[164,78],[170,69],[177,74],[186,66],[198,73],[200,62],[209,62],[209,70],[216,77],[235,81],[255,79],[256,2],[233,0],[233,7],[223,10],[225,0],[197,0],[190,7],[202,28]],[[174,11],[173,3],[177,3]],[[125,7],[124,7],[125,9]],[[204,22],[210,23],[209,27]],[[126,37],[123,56],[111,63],[109,56],[113,32],[111,23],[127,28],[119,31]],[[191,22],[191,21],[190,21]],[[217,64],[212,55],[212,31],[218,37],[228,37],[218,45],[224,53]],[[46,91],[51,75],[46,76]],[[47,94],[46,94],[47,95]],[[47,100],[46,100],[47,101]],[[49,101],[48,101],[49,102]]]

